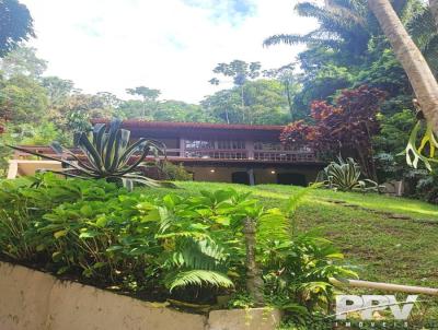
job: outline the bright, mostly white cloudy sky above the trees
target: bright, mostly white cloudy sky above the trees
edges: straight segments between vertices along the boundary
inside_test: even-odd
[[[208,81],[219,62],[291,62],[301,46],[263,47],[279,33],[306,33],[311,19],[297,0],[21,0],[34,19],[30,45],[48,61],[46,75],[70,79],[85,93],[145,85],[162,99],[198,103],[230,86]]]

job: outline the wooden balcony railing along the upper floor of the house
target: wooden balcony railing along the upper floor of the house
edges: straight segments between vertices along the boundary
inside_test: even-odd
[[[56,154],[49,146],[24,146],[25,149],[57,158],[71,158],[68,154]],[[71,149],[74,154],[81,154],[80,150]],[[303,163],[315,162],[316,156],[312,150],[301,149],[292,151],[263,151],[263,150],[226,150],[226,149],[168,149],[166,156],[170,160],[242,160],[242,161],[257,161],[257,162],[278,162],[278,163]],[[23,160],[34,157],[31,154],[16,151],[14,158]]]

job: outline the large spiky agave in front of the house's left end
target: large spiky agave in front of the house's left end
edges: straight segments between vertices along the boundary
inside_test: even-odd
[[[123,182],[128,189],[132,188],[134,182],[149,187],[169,186],[170,184],[148,178],[138,170],[141,167],[148,167],[142,164],[147,156],[153,155],[157,160],[159,155],[165,155],[165,145],[146,138],[141,138],[129,145],[130,131],[120,129],[120,125],[122,120],[113,119],[110,126],[96,123],[91,134],[88,132],[79,133],[78,148],[85,158],[72,153],[58,142],[51,143],[53,150],[58,154],[71,156],[72,161],[59,160],[25,148],[9,146],[42,158],[60,162],[64,168],[51,172],[66,177],[106,179],[107,181]],[[130,163],[134,156],[137,157]]]

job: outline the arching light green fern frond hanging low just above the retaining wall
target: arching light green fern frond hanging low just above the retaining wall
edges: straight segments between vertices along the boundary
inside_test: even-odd
[[[196,286],[217,286],[217,287],[233,287],[232,281],[221,272],[209,270],[189,270],[175,272],[168,275],[165,286],[173,291],[175,287],[186,287],[189,285]]]

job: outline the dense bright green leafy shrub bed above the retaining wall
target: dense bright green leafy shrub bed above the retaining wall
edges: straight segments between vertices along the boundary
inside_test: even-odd
[[[187,197],[150,191],[50,173],[31,186],[2,181],[0,256],[153,299],[214,303],[217,295],[247,293],[255,275],[265,300],[289,310],[322,308],[328,276],[351,274],[336,266],[342,255],[330,241],[293,231],[298,196],[281,212],[232,189]]]

